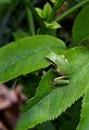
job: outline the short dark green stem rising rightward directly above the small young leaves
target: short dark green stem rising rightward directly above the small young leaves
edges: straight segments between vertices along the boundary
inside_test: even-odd
[[[56,10],[59,8],[61,8],[61,5],[64,3],[64,0],[59,0],[59,2],[53,6],[53,10],[51,12],[51,15],[49,16],[48,18],[48,23],[50,23],[52,21],[52,18],[54,17],[55,13],[56,13]]]

